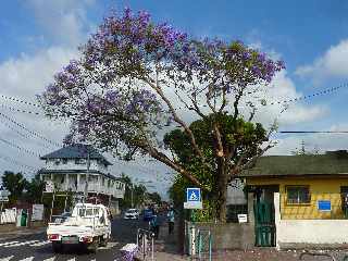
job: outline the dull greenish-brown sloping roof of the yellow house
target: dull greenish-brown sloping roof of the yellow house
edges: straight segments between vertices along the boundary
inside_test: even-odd
[[[285,176],[285,175],[348,175],[348,153],[346,150],[328,151],[325,154],[266,156],[256,165],[243,171],[246,176]]]

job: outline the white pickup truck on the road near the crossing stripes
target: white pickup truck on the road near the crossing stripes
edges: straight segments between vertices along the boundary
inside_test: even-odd
[[[48,224],[47,237],[54,252],[61,252],[67,244],[84,245],[96,252],[111,237],[109,210],[103,204],[77,203],[66,221]]]

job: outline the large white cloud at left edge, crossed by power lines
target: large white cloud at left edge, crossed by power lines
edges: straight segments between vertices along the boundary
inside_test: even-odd
[[[1,95],[7,97],[18,98],[21,100],[36,102],[35,96],[42,92],[46,85],[53,79],[53,74],[59,71],[70,59],[76,57],[76,52],[60,47],[52,47],[41,50],[34,55],[22,54],[17,59],[10,59],[0,64]],[[8,107],[40,112],[39,108],[30,107],[13,100],[0,98],[1,112],[26,128],[34,130],[54,142],[61,144],[63,136],[66,134],[67,126],[64,123],[51,122],[42,115],[30,115],[11,111]],[[3,138],[23,149],[34,151],[39,154],[48,153],[57,147],[50,146],[49,142],[33,137],[28,132],[16,126],[12,122],[0,116],[0,138]],[[18,133],[20,132],[20,133]],[[24,164],[39,169],[42,165],[38,157],[30,156],[17,150],[10,145],[0,142],[1,156],[10,157],[12,160],[20,161]],[[13,170],[24,171],[20,165],[11,161],[1,160],[1,171]],[[34,174],[29,171],[28,174]]]

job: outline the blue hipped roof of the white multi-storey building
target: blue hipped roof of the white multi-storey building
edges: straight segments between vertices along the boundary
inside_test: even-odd
[[[51,153],[40,157],[41,160],[47,159],[89,159],[101,160],[107,165],[112,165],[102,154],[90,145],[75,144],[63,147]]]

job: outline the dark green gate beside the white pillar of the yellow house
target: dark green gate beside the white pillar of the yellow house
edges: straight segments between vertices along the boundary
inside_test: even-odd
[[[274,204],[266,201],[254,201],[254,234],[257,247],[275,246]]]

